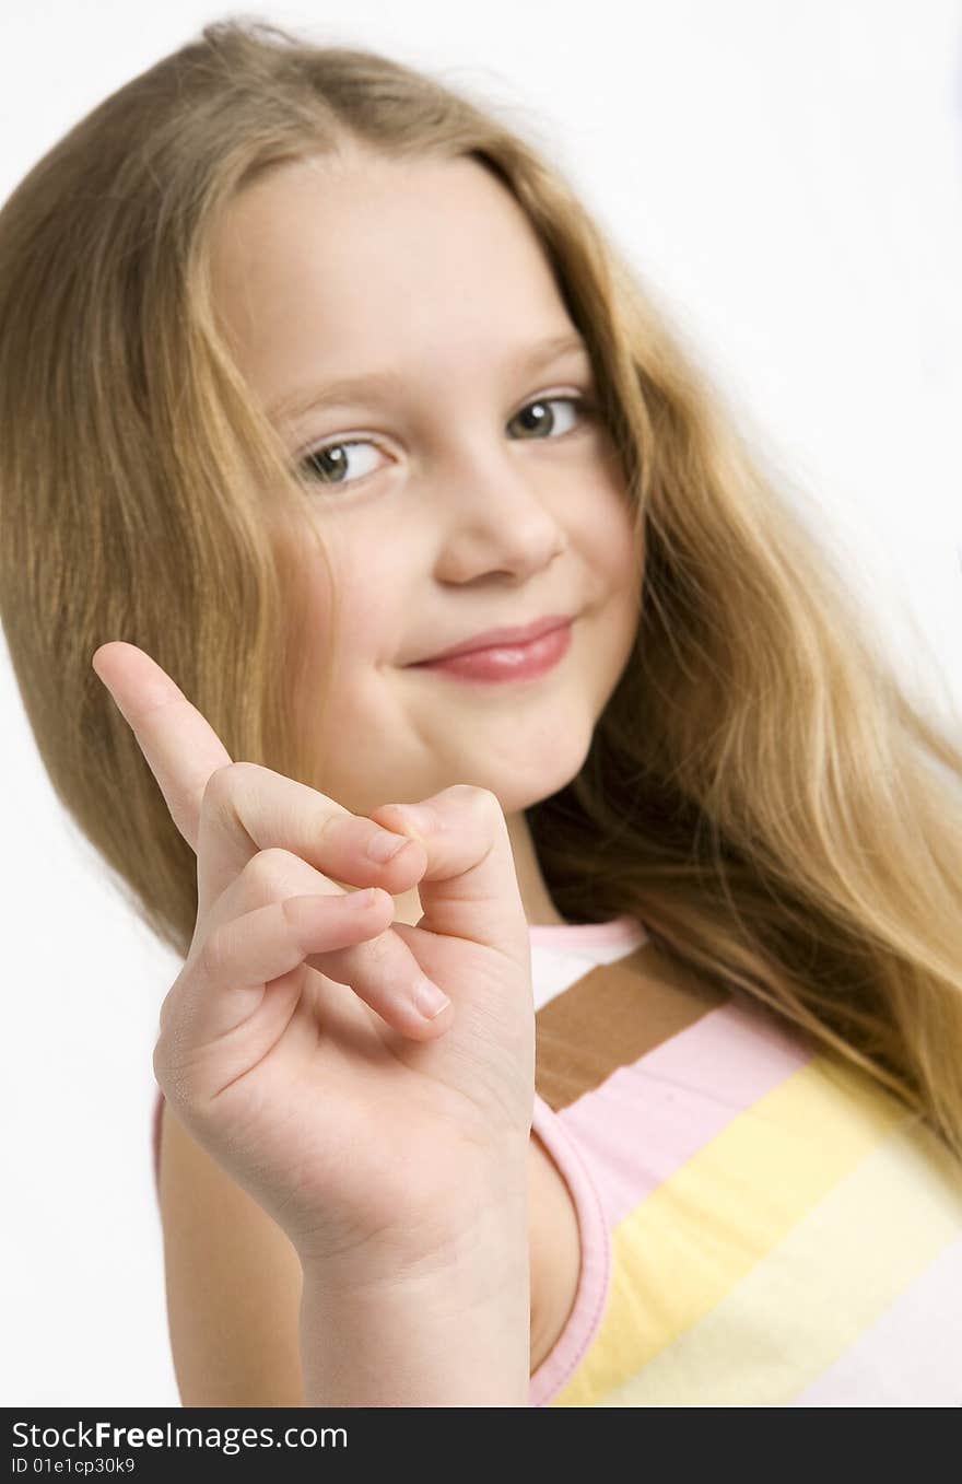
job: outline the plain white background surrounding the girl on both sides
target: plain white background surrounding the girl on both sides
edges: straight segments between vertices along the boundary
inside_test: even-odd
[[[229,13],[7,0],[0,197],[101,98]],[[906,678],[934,706],[962,703],[955,0],[242,13],[517,110],[815,502]],[[0,717],[0,1402],[180,1405],[150,1156],[156,1017],[180,965],[55,801],[6,646]]]

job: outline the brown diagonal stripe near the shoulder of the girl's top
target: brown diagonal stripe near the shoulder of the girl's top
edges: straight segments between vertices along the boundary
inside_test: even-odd
[[[652,942],[598,963],[534,1015],[534,1086],[555,1113],[730,996]]]

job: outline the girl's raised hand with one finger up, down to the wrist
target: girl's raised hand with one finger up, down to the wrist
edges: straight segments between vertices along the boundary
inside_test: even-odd
[[[94,660],[197,856],[154,1049],[165,1097],[304,1263],[429,1263],[527,1158],[530,938],[496,795],[459,784],[352,815],[233,763],[135,646]],[[393,923],[414,884],[419,925]],[[425,979],[451,1002],[435,1018]]]

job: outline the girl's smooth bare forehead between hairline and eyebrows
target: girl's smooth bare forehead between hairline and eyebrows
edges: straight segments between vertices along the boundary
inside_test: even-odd
[[[316,362],[319,337],[361,368],[569,324],[527,217],[475,160],[285,163],[229,203],[212,248],[218,315],[269,380]]]

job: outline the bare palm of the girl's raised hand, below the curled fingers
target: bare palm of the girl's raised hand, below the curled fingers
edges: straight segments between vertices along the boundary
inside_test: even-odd
[[[457,942],[462,974],[465,947],[482,956]],[[436,939],[433,948],[438,962],[453,956]],[[523,1040],[531,1005],[521,982],[515,1006],[511,1034]],[[232,1046],[220,1048],[249,1067],[220,1100],[245,1159],[254,1153],[272,1186],[292,1193],[288,1223],[304,1232],[312,1211],[350,1212],[340,1232],[325,1221],[325,1242],[347,1247],[395,1224],[398,1212],[417,1221],[438,1211],[469,1184],[472,1159],[499,1122],[509,1128],[526,1095],[505,1027],[491,1039],[487,1020],[462,1017],[439,1040],[411,1042],[309,965],[269,985]],[[485,1042],[490,1055],[480,1054]]]

